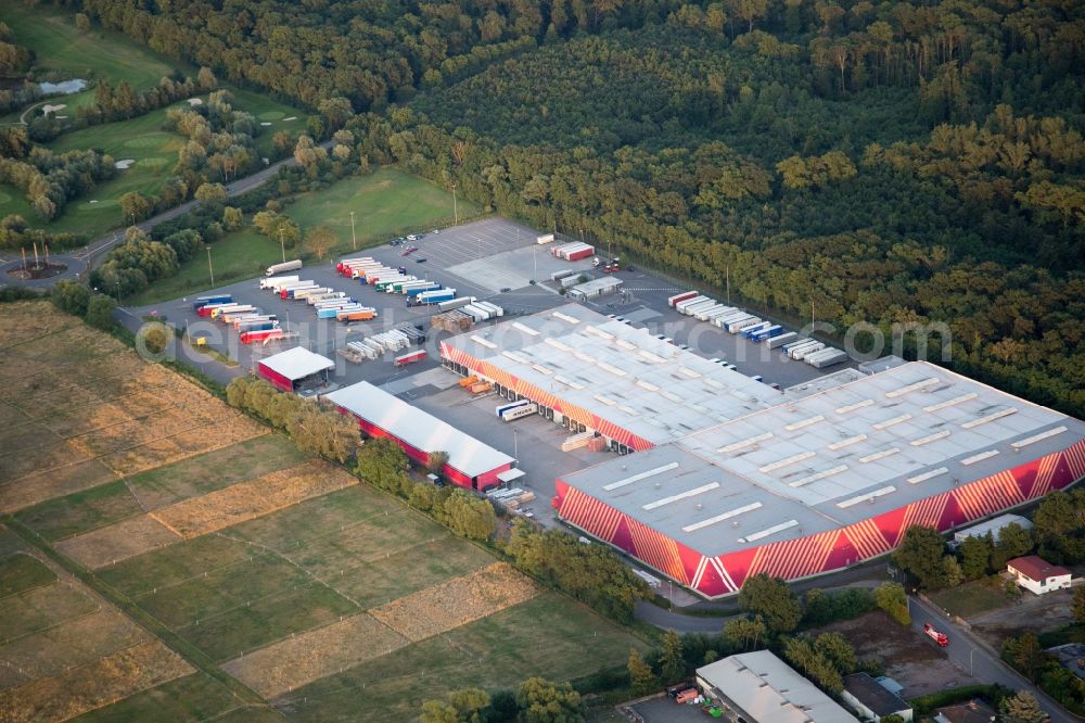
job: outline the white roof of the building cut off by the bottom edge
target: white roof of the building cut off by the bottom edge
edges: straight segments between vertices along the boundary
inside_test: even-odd
[[[742,652],[697,669],[751,723],[855,723],[856,718],[768,650]]]

